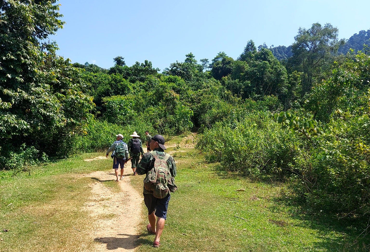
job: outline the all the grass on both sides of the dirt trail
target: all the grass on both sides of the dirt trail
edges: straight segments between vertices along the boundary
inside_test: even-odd
[[[181,137],[167,144],[173,152]],[[50,163],[28,173],[0,172],[0,251],[93,250],[91,219],[83,207],[95,180],[82,176],[107,170],[111,159],[83,161],[84,154]],[[172,194],[161,251],[369,251],[367,222],[336,215],[312,214],[282,197],[282,184],[253,182],[206,164],[198,151],[184,146],[173,152],[179,190]],[[142,193],[143,176],[132,176]],[[118,184],[105,181],[113,192]],[[236,191],[245,189],[245,191]],[[147,235],[142,204],[137,251],[154,251]],[[111,219],[115,214],[97,218]],[[78,231],[78,230],[80,231]],[[359,236],[357,238],[357,236]]]

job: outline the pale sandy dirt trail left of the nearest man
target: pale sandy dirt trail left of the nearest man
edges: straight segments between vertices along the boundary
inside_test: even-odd
[[[85,202],[85,209],[91,212],[91,219],[97,219],[94,231],[90,233],[91,238],[97,241],[94,251],[134,251],[138,246],[137,227],[143,197],[131,186],[131,175],[131,162],[128,162],[125,164],[123,180],[117,182],[121,187],[118,193],[103,184],[104,181],[115,180],[113,169],[85,175],[96,180],[92,184],[92,196]]]

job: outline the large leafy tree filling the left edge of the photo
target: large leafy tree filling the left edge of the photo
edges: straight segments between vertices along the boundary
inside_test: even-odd
[[[64,24],[56,2],[0,1],[2,152],[25,141],[57,146],[42,139],[45,132],[50,136],[62,127],[68,132],[91,116],[92,98],[83,93],[80,70],[55,55],[57,44],[47,39]]]

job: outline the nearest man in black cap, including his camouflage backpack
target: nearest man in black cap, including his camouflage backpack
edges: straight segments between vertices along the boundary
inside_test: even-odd
[[[137,167],[139,175],[146,174],[144,179],[144,203],[148,208],[149,234],[155,235],[154,247],[161,245],[160,238],[167,216],[170,192],[177,190],[175,185],[176,164],[174,158],[165,153],[165,140],[161,135],[152,137],[151,150],[142,156]],[[157,216],[157,218],[156,218]],[[157,221],[157,225],[156,225]]]

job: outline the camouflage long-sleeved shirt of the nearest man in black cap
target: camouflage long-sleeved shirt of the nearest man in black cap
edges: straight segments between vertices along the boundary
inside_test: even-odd
[[[153,151],[157,153],[157,156],[160,159],[162,159],[165,156],[165,152],[161,148],[155,148]],[[139,175],[146,174],[146,176],[148,176],[148,171],[150,171],[154,167],[154,161],[155,159],[153,155],[151,154],[151,151],[145,153],[144,156],[142,156],[141,161],[136,168],[136,172]],[[172,156],[169,156],[167,160],[167,164],[169,166],[169,171],[171,172],[171,176],[175,177],[176,176],[176,164]],[[153,192],[148,191],[144,188],[143,194],[153,194]]]

